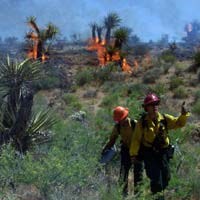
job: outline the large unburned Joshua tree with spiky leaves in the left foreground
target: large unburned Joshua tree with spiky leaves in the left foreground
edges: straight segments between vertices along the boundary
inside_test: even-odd
[[[48,112],[32,117],[32,82],[40,78],[40,63],[26,59],[20,63],[7,58],[0,65],[0,144],[12,142],[16,150],[26,152],[39,131],[54,120]]]

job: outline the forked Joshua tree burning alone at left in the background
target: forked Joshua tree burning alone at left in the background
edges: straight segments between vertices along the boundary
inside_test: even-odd
[[[45,43],[48,40],[52,40],[53,38],[55,38],[56,34],[58,33],[58,28],[49,23],[46,29],[40,30],[36,24],[36,18],[33,16],[28,18],[27,23],[31,26],[33,31],[29,32],[26,35],[26,38],[31,39],[35,42],[37,58],[41,59],[42,54],[45,52]]]

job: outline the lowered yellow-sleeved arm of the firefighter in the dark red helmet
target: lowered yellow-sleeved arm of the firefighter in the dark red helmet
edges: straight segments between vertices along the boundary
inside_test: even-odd
[[[139,152],[139,148],[142,142],[142,125],[140,122],[137,122],[130,146],[130,156],[136,157]]]

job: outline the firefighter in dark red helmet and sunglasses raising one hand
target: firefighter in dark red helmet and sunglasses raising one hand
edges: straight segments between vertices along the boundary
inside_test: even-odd
[[[142,152],[152,194],[164,191],[170,180],[169,160],[174,149],[169,141],[168,130],[183,127],[189,116],[185,102],[179,117],[159,113],[159,103],[156,94],[145,97],[143,107],[146,114],[138,120],[130,146],[133,162],[137,161],[138,153]]]

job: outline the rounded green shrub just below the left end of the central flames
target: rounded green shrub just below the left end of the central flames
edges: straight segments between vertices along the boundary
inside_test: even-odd
[[[75,76],[76,84],[79,86],[83,86],[86,83],[90,83],[94,80],[93,70],[92,69],[84,69],[78,72]]]

